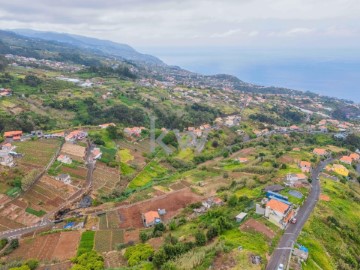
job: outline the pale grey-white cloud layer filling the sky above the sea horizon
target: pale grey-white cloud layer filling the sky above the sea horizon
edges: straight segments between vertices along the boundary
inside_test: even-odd
[[[339,33],[360,29],[358,0],[3,2],[0,28],[69,32],[135,46],[276,45],[279,38],[296,41],[305,36],[329,44]],[[331,28],[334,25],[336,29]],[[336,42],[360,39],[348,36],[349,40]]]

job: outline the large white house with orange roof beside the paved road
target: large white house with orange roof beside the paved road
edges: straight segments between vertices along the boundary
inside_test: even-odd
[[[266,203],[265,217],[268,218],[269,221],[284,229],[291,218],[293,218],[295,215],[295,212],[292,211],[292,208],[293,207],[291,203],[275,198],[270,199]]]

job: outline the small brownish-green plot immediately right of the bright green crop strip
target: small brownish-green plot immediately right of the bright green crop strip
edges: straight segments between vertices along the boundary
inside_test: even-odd
[[[124,242],[123,230],[99,230],[95,234],[94,249],[97,252],[109,252],[114,250],[117,244]]]

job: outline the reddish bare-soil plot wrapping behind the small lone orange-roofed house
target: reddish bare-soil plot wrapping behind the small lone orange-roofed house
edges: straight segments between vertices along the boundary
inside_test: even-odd
[[[131,206],[124,206],[119,209],[120,228],[143,228],[141,214],[150,210],[165,209],[166,214],[163,217],[165,221],[171,219],[188,204],[199,202],[203,197],[191,192],[185,188],[173,193],[169,193],[150,200],[141,201]]]

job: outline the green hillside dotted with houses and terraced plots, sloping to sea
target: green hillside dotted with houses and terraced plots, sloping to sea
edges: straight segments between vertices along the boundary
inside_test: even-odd
[[[358,105],[53,38],[0,32],[1,269],[359,268]]]

